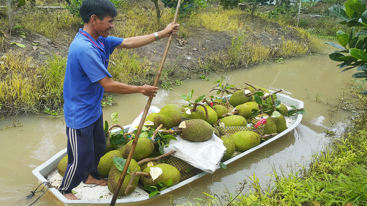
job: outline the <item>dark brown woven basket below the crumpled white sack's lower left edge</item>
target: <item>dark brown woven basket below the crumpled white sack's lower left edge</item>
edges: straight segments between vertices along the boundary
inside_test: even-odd
[[[200,169],[195,168],[194,166],[177,157],[167,156],[162,158],[161,160],[163,160],[164,163],[172,165],[178,169],[178,171],[181,173],[180,182],[182,182],[183,180],[187,180],[190,177],[193,177],[202,172]]]

